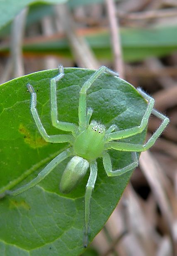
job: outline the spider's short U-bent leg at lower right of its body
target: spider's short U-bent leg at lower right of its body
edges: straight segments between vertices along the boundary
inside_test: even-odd
[[[131,157],[133,160],[133,162],[131,164],[129,164],[126,167],[123,167],[119,170],[112,171],[111,158],[107,152],[104,152],[103,165],[104,165],[104,169],[107,173],[107,176],[119,176],[119,175],[126,173],[127,171],[131,171],[134,168],[136,168],[138,166],[138,158],[137,158],[136,152],[132,152]]]

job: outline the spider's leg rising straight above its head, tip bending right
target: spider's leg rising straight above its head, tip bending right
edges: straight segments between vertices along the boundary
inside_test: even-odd
[[[87,89],[95,82],[95,80],[103,73],[108,73],[109,75],[119,76],[116,72],[109,70],[107,67],[100,67],[95,73],[84,83],[80,89],[79,97],[79,129],[82,132],[85,129],[86,119],[87,119]]]

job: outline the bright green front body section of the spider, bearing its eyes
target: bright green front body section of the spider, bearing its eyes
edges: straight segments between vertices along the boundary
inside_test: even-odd
[[[96,122],[78,135],[74,143],[75,153],[85,159],[97,159],[102,156],[104,150],[105,129]]]

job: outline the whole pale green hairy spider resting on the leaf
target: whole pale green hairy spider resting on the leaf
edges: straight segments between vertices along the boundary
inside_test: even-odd
[[[90,223],[90,199],[92,191],[97,179],[97,158],[102,157],[104,169],[108,176],[118,176],[131,171],[138,166],[138,158],[136,152],[143,152],[153,146],[156,139],[160,136],[162,131],[167,126],[169,119],[163,114],[153,109],[154,99],[145,94],[141,89],[138,92],[147,100],[147,108],[143,115],[141,124],[129,129],[118,130],[116,125],[110,126],[108,129],[103,124],[97,121],[91,121],[93,110],[87,108],[87,89],[100,77],[103,73],[108,73],[112,76],[118,76],[117,73],[109,70],[107,67],[100,67],[95,73],[84,83],[80,89],[78,117],[79,125],[68,122],[58,121],[57,100],[56,100],[56,82],[61,80],[64,76],[63,66],[59,66],[59,74],[51,79],[51,120],[54,127],[63,131],[70,132],[71,134],[48,135],[44,129],[39,115],[36,110],[36,93],[32,85],[27,84],[27,88],[32,95],[31,99],[31,112],[36,123],[36,126],[41,136],[46,142],[63,143],[69,142],[70,148],[63,151],[55,157],[32,181],[26,185],[14,190],[5,191],[5,194],[16,196],[32,188],[44,179],[59,163],[67,157],[72,156],[68,162],[65,171],[63,172],[60,190],[63,193],[69,193],[85,176],[87,169],[90,167],[90,176],[86,185],[85,192],[85,231],[84,231],[84,247],[88,244],[89,223]],[[162,119],[160,127],[154,132],[152,137],[145,144],[131,144],[125,142],[118,142],[123,138],[131,137],[135,134],[141,133],[148,124],[150,114]],[[117,130],[117,131],[114,131]],[[119,151],[129,151],[132,156],[132,163],[124,168],[112,171],[112,164],[110,156],[107,152],[108,149],[115,149]]]

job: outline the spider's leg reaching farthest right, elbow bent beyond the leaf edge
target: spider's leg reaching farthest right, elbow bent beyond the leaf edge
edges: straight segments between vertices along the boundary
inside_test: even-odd
[[[153,133],[153,135],[150,137],[148,142],[145,144],[131,144],[126,142],[108,142],[105,149],[116,149],[120,151],[134,151],[134,152],[143,152],[150,147],[153,146],[156,139],[160,136],[160,134],[163,132],[167,124],[169,123],[168,117],[165,117],[163,114],[159,113],[157,110],[153,109],[152,114],[154,114],[156,117],[163,120],[163,122],[160,124],[160,127]]]

